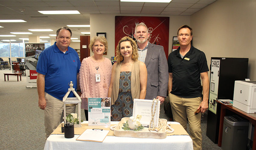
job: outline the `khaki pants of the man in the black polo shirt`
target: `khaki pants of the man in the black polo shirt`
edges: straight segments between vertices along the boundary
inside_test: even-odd
[[[173,120],[179,122],[187,130],[187,118],[189,122],[190,137],[193,140],[193,149],[202,149],[201,113],[195,115],[201,97],[182,98],[171,93],[168,94],[173,113]]]

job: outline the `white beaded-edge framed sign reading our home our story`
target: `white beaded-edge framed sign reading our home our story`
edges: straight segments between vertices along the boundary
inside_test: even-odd
[[[152,107],[153,100],[143,100],[143,99],[134,99],[133,100],[133,116],[136,117],[137,115],[141,115],[142,118],[140,119],[140,123],[142,126],[148,126],[150,124],[150,121],[152,119],[151,115],[151,107]],[[159,120],[159,114],[160,114],[160,101],[158,103],[155,103],[153,106],[153,111],[156,112],[154,116],[154,123],[155,127],[158,127],[158,120]]]

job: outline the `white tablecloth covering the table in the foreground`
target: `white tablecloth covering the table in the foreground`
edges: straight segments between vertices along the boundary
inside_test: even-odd
[[[87,122],[84,122],[87,123]],[[168,122],[169,124],[170,122]],[[115,124],[111,122],[111,124]],[[179,124],[171,122],[171,124]],[[63,134],[52,134],[46,140],[44,150],[95,149],[95,150],[193,150],[192,139],[187,135],[172,135],[165,139],[107,136],[100,142],[76,141],[79,135],[67,139]]]

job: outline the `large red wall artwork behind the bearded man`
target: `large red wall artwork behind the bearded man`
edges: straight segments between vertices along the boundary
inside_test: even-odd
[[[124,36],[133,37],[135,23],[144,22],[148,27],[148,41],[152,44],[164,46],[166,58],[169,49],[169,17],[150,16],[115,16],[115,48]]]

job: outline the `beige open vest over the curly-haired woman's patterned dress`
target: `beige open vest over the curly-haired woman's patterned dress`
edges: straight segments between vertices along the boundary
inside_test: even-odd
[[[115,101],[118,98],[119,92],[119,78],[120,78],[120,70],[123,62],[117,63],[115,76],[114,76],[114,83],[113,83],[113,90],[111,94],[111,105],[115,104]],[[132,66],[132,74],[131,74],[131,93],[132,98],[139,98],[140,93],[140,82],[139,82],[139,61],[133,61]]]

